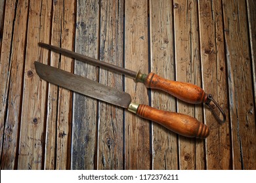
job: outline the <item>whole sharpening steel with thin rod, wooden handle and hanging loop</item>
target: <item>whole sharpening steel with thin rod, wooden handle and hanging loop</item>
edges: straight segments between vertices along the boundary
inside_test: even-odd
[[[66,50],[64,48],[53,46],[51,44],[45,44],[43,42],[39,42],[38,45],[41,46],[42,48],[53,50],[54,52],[57,52],[64,56],[78,59],[79,61],[90,63],[92,65],[95,65],[104,69],[108,69],[125,76],[129,76],[131,78],[134,78],[135,82],[142,82],[147,88],[162,90],[187,103],[192,103],[192,104],[205,103],[205,105],[207,105],[209,109],[213,112],[213,115],[215,116],[215,118],[219,123],[222,124],[226,121],[226,114],[224,113],[223,108],[221,108],[221,106],[213,99],[213,96],[211,94],[205,93],[204,90],[199,86],[196,86],[194,84],[190,84],[187,82],[167,80],[165,78],[161,78],[155,73],[149,73],[148,75],[146,75],[141,73],[140,71],[138,72],[131,71],[129,69],[118,67],[111,63],[106,63],[98,59],[90,58],[82,54],[78,54],[76,52]],[[211,102],[213,102],[213,107],[211,105]],[[222,118],[220,118],[220,115],[217,114],[217,111],[215,108],[219,110],[219,114],[222,115]]]

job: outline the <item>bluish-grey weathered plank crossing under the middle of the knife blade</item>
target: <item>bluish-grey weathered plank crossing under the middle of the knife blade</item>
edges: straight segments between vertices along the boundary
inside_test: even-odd
[[[77,1],[75,52],[98,58],[99,2]],[[98,81],[98,69],[75,61],[74,73]],[[74,93],[72,169],[96,169],[97,102]]]

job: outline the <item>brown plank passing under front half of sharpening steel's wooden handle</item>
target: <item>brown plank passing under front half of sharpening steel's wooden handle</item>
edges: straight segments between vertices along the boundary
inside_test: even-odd
[[[173,49],[173,3],[150,1],[151,72],[175,80]],[[152,90],[152,107],[176,111],[175,98]],[[152,169],[178,169],[177,134],[152,125]]]

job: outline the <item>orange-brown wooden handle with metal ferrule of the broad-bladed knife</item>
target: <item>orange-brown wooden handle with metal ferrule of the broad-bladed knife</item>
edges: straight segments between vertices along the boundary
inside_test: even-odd
[[[185,114],[158,110],[148,105],[138,105],[136,103],[131,103],[128,110],[185,137],[205,139],[209,135],[207,125]]]

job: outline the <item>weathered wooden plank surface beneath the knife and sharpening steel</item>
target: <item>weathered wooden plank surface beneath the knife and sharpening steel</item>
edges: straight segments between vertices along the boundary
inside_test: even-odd
[[[17,2],[17,3],[16,3]],[[0,0],[1,169],[256,169],[256,3],[167,0]],[[60,56],[46,42],[211,93],[227,115],[147,90],[133,79]],[[207,139],[41,80],[34,61],[197,118]],[[189,95],[189,93],[188,93]]]

